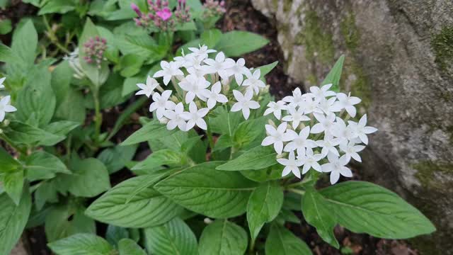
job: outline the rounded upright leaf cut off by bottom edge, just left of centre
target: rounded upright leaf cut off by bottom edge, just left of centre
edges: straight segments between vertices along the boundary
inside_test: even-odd
[[[247,249],[247,232],[228,220],[207,225],[200,237],[200,255],[242,255]]]

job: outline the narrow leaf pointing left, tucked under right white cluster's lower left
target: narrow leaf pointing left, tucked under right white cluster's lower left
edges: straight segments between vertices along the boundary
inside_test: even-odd
[[[263,147],[258,145],[248,152],[241,154],[236,159],[230,160],[225,164],[217,166],[217,170],[242,171],[259,170],[277,164],[277,153],[272,146]]]

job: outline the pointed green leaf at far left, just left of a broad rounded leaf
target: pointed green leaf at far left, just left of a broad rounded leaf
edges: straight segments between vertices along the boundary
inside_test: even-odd
[[[38,151],[25,159],[28,181],[52,179],[57,173],[71,174],[63,162],[54,155]]]

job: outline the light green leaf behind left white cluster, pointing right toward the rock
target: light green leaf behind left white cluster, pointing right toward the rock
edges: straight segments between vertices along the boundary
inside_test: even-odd
[[[222,35],[217,44],[217,50],[224,52],[229,57],[240,57],[248,52],[258,50],[268,43],[268,39],[256,33],[231,31]]]

